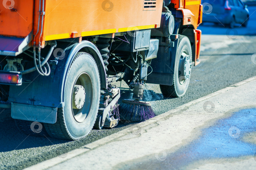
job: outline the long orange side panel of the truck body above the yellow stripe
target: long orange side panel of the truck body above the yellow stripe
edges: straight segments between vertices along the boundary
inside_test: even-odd
[[[143,10],[144,0],[46,0],[41,40],[69,38],[71,32],[81,37],[134,26],[155,27],[161,21],[163,0],[154,2],[153,10]]]

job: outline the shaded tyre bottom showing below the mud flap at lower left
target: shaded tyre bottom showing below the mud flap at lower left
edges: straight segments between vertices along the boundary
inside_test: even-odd
[[[19,131],[32,136],[48,136],[43,123],[14,119]],[[33,123],[33,124],[32,124]]]

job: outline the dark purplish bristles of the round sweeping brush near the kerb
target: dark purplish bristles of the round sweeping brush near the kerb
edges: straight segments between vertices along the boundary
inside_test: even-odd
[[[143,122],[155,117],[151,106],[121,103],[119,105],[120,118],[131,122]]]

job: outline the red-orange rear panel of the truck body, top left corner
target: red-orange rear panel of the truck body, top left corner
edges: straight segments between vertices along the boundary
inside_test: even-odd
[[[33,29],[34,0],[3,0],[0,3],[0,35],[27,37]]]

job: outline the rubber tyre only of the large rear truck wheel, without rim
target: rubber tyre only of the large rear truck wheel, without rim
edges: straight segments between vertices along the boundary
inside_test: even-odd
[[[91,100],[88,101],[90,107],[85,120],[78,122],[72,112],[71,96],[76,78],[81,73],[90,76],[93,93]],[[100,75],[97,64],[90,54],[79,52],[72,61],[65,80],[64,103],[64,108],[58,109],[57,122],[45,123],[46,131],[51,137],[58,139],[77,140],[86,137],[94,126],[100,104]]]

